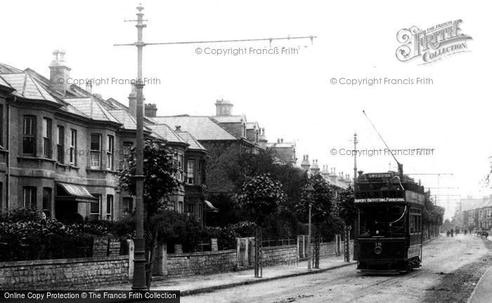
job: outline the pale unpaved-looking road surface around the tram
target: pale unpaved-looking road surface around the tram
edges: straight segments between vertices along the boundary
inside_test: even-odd
[[[441,236],[424,246],[422,267],[409,274],[363,276],[354,265],[181,297],[181,302],[466,302],[491,264],[491,251],[491,241],[474,235]]]

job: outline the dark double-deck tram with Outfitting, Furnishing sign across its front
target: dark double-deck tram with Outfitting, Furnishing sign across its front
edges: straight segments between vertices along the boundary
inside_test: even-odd
[[[421,266],[424,187],[399,172],[362,173],[356,180],[357,269],[399,274]]]

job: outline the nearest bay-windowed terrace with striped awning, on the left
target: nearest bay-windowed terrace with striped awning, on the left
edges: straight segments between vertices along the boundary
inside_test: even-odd
[[[1,209],[38,208],[70,222],[116,220],[134,210],[134,197],[117,192],[117,170],[136,140],[136,93],[129,107],[103,100],[91,85],[68,85],[65,53],[56,51],[49,79],[32,69],[0,64]],[[155,105],[145,112],[155,115]],[[144,135],[176,152],[183,182],[169,203],[202,221],[207,150],[179,126],[145,120]]]

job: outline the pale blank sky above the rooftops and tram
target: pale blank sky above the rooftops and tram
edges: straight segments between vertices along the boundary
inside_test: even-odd
[[[377,3],[377,4],[375,4]],[[453,215],[454,199],[491,194],[481,180],[490,170],[489,13],[479,1],[143,1],[144,41],[204,41],[316,36],[272,41],[278,54],[214,55],[236,48],[268,50],[268,41],[145,46],[144,88],[157,115],[214,115],[217,99],[234,114],[258,121],[270,141],[295,142],[318,165],[353,173],[353,147],[384,149],[365,110],[390,149],[434,149],[425,156],[397,156],[438,204]],[[73,79],[134,79],[137,1],[8,1],[0,18],[0,62],[49,75],[54,49],[66,50]],[[472,36],[465,53],[430,65],[396,59],[396,33],[462,20]],[[197,48],[202,53],[197,53]],[[282,54],[282,47],[297,53]],[[207,54],[205,49],[207,48]],[[422,60],[420,60],[421,62]],[[432,79],[427,85],[339,84],[342,79]],[[336,84],[330,83],[334,78]],[[84,87],[84,86],[82,86]],[[127,104],[128,84],[107,83],[94,93]],[[336,154],[332,154],[335,149]],[[396,169],[387,155],[359,156],[358,169]],[[445,189],[443,187],[456,187]],[[444,196],[448,195],[448,196]],[[453,196],[451,196],[453,195]]]

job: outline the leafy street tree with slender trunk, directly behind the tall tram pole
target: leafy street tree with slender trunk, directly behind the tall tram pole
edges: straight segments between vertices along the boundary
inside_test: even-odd
[[[131,147],[127,166],[119,170],[119,190],[136,195],[136,147]],[[147,287],[150,288],[153,262],[157,248],[157,239],[165,217],[162,217],[169,198],[180,185],[176,178],[179,168],[175,161],[174,152],[162,142],[145,140],[143,147],[143,203],[145,223],[145,271]],[[157,218],[159,220],[157,220]]]

